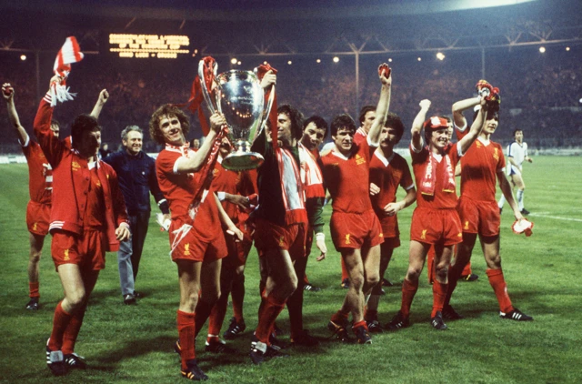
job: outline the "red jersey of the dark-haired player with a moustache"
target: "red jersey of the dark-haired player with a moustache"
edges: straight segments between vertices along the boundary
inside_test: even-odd
[[[380,193],[370,197],[377,217],[384,217],[384,207],[396,201],[398,186],[408,190],[415,187],[410,168],[404,157],[396,152],[386,158],[383,154],[374,152],[370,161],[370,183],[380,188]]]

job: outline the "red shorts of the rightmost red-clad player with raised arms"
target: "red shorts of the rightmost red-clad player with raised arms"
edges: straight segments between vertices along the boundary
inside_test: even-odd
[[[457,205],[463,232],[478,233],[481,236],[499,235],[501,216],[496,201],[475,201],[461,197]]]

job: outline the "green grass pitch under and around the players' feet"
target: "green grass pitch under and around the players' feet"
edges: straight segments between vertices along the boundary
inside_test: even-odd
[[[518,308],[535,318],[534,322],[498,318],[497,300],[487,283],[485,263],[477,246],[473,268],[480,278],[475,283],[459,283],[453,298],[453,304],[466,319],[449,322],[446,332],[430,328],[432,294],[423,273],[412,308],[412,328],[374,336],[370,346],[340,345],[325,339],[326,322],[346,293],[339,287],[338,256],[331,251],[321,263],[311,259],[307,268],[310,280],[324,288],[305,295],[306,328],[324,339],[321,347],[289,350],[290,359],[255,367],[246,356],[258,305],[253,251],[246,270],[247,330],[230,344],[240,355],[209,355],[203,352],[204,338],[197,342],[198,359],[210,382],[582,382],[582,158],[536,157],[533,165],[526,165],[525,179],[526,207],[536,223],[534,236],[512,234],[509,227],[513,218],[506,207],[501,255],[509,294]],[[50,258],[50,237],[41,259],[41,309],[31,313],[24,309],[28,254],[26,166],[0,166],[0,186],[0,382],[186,382],[179,376],[178,359],[172,350],[177,337],[176,267],[168,257],[166,234],[159,232],[153,220],[136,286],[146,297],[137,306],[122,304],[115,253],[107,254],[107,266],[91,297],[76,348],[87,359],[89,369],[72,371],[64,379],[52,377],[45,366],[45,341],[62,288]],[[386,289],[380,303],[382,323],[399,308],[397,286],[406,271],[411,213],[409,208],[399,217],[403,247],[396,250],[388,270],[396,286]],[[331,242],[328,248],[333,249]],[[288,329],[286,311],[278,324]]]

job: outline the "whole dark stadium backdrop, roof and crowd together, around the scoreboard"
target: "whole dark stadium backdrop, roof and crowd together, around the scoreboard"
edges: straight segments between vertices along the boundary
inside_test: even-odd
[[[472,96],[484,76],[501,90],[497,141],[507,144],[519,126],[531,150],[581,146],[582,2],[514,1],[507,6],[453,8],[462,3],[3,1],[0,80],[16,87],[16,107],[30,132],[55,54],[67,35],[75,35],[87,53],[73,66],[68,81],[78,96],[58,106],[56,117],[66,134],[71,119],[89,112],[99,90],[107,88],[111,100],[100,122],[103,141],[116,147],[124,126],[146,128],[157,106],[186,102],[202,56],[216,57],[219,72],[252,69],[268,61],[279,70],[279,103],[326,119],[341,112],[356,116],[360,106],[374,103],[379,90],[376,67],[392,59],[390,110],[402,116],[406,126],[421,99],[432,100],[431,113],[450,114],[450,106]],[[191,54],[177,59],[120,58],[108,52],[110,33],[188,35]],[[545,53],[539,52],[540,46]],[[360,50],[357,85],[354,50]],[[438,51],[446,55],[444,60],[436,58]],[[26,55],[25,61],[21,55]],[[338,63],[332,61],[334,56]],[[241,65],[231,65],[232,57]],[[195,129],[188,138],[201,135],[197,118],[192,120]],[[7,126],[5,108],[0,108],[0,122]],[[18,153],[14,136],[3,132],[0,153]],[[146,138],[146,149],[155,151]]]

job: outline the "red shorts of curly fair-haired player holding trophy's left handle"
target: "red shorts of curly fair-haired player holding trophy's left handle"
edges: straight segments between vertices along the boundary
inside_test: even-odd
[[[175,234],[170,227],[170,247],[172,247],[172,261],[216,261],[225,258],[228,253],[226,249],[225,235],[222,231],[210,241],[203,241],[196,233],[194,227],[180,239],[181,233]],[[174,244],[176,241],[177,244]]]

